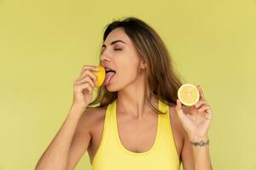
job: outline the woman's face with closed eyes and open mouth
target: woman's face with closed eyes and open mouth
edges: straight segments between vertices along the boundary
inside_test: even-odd
[[[116,71],[106,85],[108,91],[119,91],[142,77],[139,75],[142,62],[133,42],[123,28],[116,28],[108,34],[102,45],[101,60],[103,67]]]

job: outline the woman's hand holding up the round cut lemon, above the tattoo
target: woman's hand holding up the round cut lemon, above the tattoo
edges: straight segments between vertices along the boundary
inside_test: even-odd
[[[189,106],[189,112],[183,111],[179,99],[176,105],[177,115],[190,140],[207,139],[207,131],[212,120],[210,105],[207,104],[201,87],[197,85],[196,88],[199,90],[200,99],[195,105]]]

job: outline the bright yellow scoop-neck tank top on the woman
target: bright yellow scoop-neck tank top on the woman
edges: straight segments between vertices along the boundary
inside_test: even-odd
[[[159,100],[157,133],[154,144],[145,152],[133,152],[125,149],[119,139],[116,121],[116,99],[108,105],[104,120],[101,144],[92,161],[93,170],[178,170],[180,167],[177,149],[174,143],[169,106]]]

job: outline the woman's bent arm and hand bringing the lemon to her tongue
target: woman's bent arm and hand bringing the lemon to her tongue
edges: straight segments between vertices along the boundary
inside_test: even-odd
[[[86,123],[86,116],[83,114],[87,114],[86,112],[90,110],[86,110],[86,107],[96,87],[96,77],[91,71],[97,71],[96,67],[84,65],[80,77],[74,82],[73,105],[55,138],[38,160],[36,170],[73,169],[84,151],[87,150],[90,133],[86,124],[89,123]],[[72,153],[70,153],[70,148],[72,148]]]

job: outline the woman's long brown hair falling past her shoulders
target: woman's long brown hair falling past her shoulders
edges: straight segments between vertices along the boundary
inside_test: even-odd
[[[167,105],[176,105],[177,90],[182,85],[181,77],[174,69],[174,63],[171,55],[168,53],[165,43],[154,29],[148,26],[143,20],[135,17],[128,17],[124,20],[114,20],[105,27],[103,42],[108,34],[115,28],[123,28],[128,37],[134,43],[140,59],[146,63],[144,71],[145,77],[145,99],[147,99],[150,108],[159,114],[162,114],[152,105],[150,99],[155,95]],[[101,60],[100,63],[101,64]],[[109,92],[105,86],[97,89],[96,98],[88,105],[99,104],[106,106],[117,99],[118,92]]]

